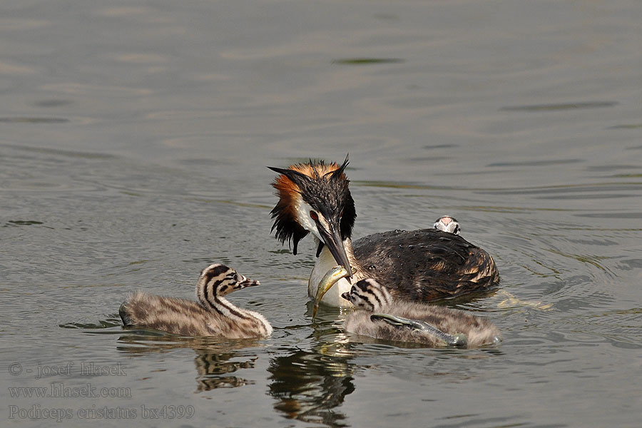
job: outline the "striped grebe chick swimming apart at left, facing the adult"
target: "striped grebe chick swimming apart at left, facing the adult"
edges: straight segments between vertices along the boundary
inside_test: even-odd
[[[213,264],[203,269],[193,300],[135,292],[118,313],[124,325],[137,325],[183,336],[214,336],[230,339],[267,337],[272,326],[258,312],[232,305],[225,295],[260,282],[249,280],[231,267]]]

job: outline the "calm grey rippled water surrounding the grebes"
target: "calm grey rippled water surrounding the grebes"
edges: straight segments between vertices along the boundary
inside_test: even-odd
[[[638,426],[639,1],[0,12],[3,426]],[[355,237],[448,213],[494,255],[501,287],[448,304],[501,345],[312,322],[314,248],[270,237],[265,165],[348,152]],[[215,261],[262,282],[232,300],[272,337],[122,330],[128,292],[191,298]]]

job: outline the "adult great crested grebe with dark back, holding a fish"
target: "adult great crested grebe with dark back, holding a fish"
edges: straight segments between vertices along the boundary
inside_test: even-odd
[[[337,163],[297,163],[290,168],[268,167],[280,175],[272,186],[279,201],[272,209],[272,231],[281,243],[292,243],[292,253],[312,232],[317,259],[307,292],[317,296],[326,273],[342,265],[348,274],[320,297],[335,307],[351,306],[342,299],[352,280],[372,277],[395,299],[434,300],[484,289],[499,282],[493,258],[453,233],[437,229],[391,230],[352,243],[357,213],[345,175],[347,157]]]

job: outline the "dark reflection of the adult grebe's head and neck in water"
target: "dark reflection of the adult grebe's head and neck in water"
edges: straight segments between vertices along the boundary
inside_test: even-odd
[[[277,412],[288,419],[347,427],[347,417],[337,408],[355,391],[355,365],[350,362],[350,343],[339,328],[340,321],[336,316],[329,318],[324,322],[317,317],[312,325],[317,342],[311,351],[298,350],[270,360],[269,394],[277,399]]]

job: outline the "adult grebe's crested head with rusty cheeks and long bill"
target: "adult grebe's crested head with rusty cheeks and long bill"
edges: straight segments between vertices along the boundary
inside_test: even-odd
[[[292,253],[297,253],[299,241],[312,232],[352,276],[343,240],[352,235],[357,213],[344,173],[347,164],[346,156],[342,165],[310,160],[286,169],[268,167],[280,174],[272,183],[279,202],[270,214],[275,219],[276,238],[281,243],[292,242]]]

